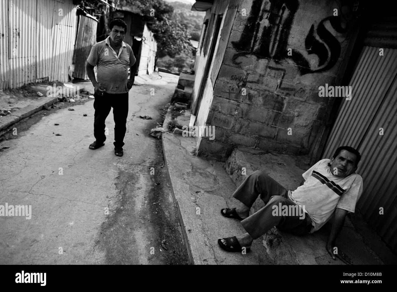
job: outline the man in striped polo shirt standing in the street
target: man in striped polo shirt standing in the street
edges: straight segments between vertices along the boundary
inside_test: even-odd
[[[91,48],[87,59],[87,75],[95,87],[94,137],[90,149],[105,145],[105,120],[110,108],[114,118],[114,154],[123,156],[124,136],[128,116],[128,91],[134,84],[136,60],[131,46],[123,42],[127,24],[121,19],[109,23],[109,36]],[[95,79],[94,67],[97,76]],[[128,79],[128,67],[130,76]]]

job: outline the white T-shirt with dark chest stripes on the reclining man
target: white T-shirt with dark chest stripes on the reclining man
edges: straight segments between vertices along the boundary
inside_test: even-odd
[[[312,230],[320,229],[331,217],[335,208],[354,213],[362,193],[362,178],[357,173],[334,176],[330,159],[322,159],[302,174],[305,182],[288,197],[298,205],[304,205],[312,219]]]

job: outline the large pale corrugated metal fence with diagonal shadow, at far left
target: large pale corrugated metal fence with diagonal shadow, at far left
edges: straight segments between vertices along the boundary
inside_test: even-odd
[[[0,0],[0,8],[1,89],[67,81],[77,23],[72,0]]]

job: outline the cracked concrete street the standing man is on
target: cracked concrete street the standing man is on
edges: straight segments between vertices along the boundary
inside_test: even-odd
[[[0,264],[188,262],[161,140],[148,136],[178,79],[160,75],[129,93],[123,157],[114,155],[112,112],[105,146],[88,148],[93,100],[13,126],[17,135],[0,142],[10,147],[0,152],[0,205],[31,205],[32,214],[0,216]]]

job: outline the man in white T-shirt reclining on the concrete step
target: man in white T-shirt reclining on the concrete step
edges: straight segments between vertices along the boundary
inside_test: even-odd
[[[312,233],[334,215],[326,249],[333,259],[336,256],[351,264],[345,253],[335,249],[335,240],[347,213],[355,212],[362,193],[362,178],[355,173],[360,159],[356,149],[341,146],[331,160],[322,159],[302,174],[304,182],[295,191],[288,191],[264,172],[255,171],[233,193],[241,206],[221,210],[225,217],[242,220],[247,233],[219,239],[218,244],[227,251],[241,252],[245,247],[247,252],[254,239],[274,226],[292,234]],[[259,194],[266,205],[249,216]]]

